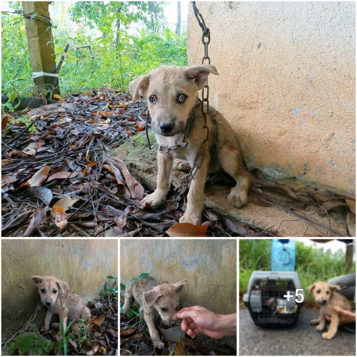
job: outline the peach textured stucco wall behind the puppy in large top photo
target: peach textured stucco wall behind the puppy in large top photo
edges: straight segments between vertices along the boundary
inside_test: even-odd
[[[211,30],[210,103],[239,133],[249,167],[352,193],[354,2],[197,2]],[[190,64],[201,29],[190,6]]]

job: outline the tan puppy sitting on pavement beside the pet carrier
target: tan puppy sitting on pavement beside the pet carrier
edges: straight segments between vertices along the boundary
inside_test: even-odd
[[[323,282],[316,282],[314,285],[307,287],[307,292],[312,292],[315,301],[320,308],[320,317],[310,321],[310,324],[317,325],[316,330],[322,331],[325,328],[325,316],[331,316],[331,322],[327,332],[322,334],[322,338],[330,340],[335,337],[339,327],[340,318],[334,310],[334,307],[339,307],[343,310],[351,311],[351,306],[348,300],[336,290],[341,290],[337,285],[329,285]]]

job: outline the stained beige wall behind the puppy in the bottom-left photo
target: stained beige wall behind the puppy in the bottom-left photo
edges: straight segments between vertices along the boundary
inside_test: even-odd
[[[39,294],[30,275],[55,275],[89,301],[117,271],[116,239],[3,239],[2,328],[24,323],[34,313]]]

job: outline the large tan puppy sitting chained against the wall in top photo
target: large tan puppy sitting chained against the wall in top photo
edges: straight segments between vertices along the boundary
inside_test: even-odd
[[[142,205],[156,206],[166,199],[173,159],[178,159],[175,160],[175,168],[187,167],[188,162],[196,173],[187,196],[186,212],[180,222],[195,225],[201,223],[208,171],[223,169],[236,180],[228,200],[237,208],[247,202],[251,183],[231,125],[210,107],[205,128],[197,91],[206,86],[210,73],[218,74],[212,65],[160,66],[134,80],[129,87],[133,101],[139,94],[146,100],[151,127],[159,144],[157,188],[144,197]],[[207,112],[206,104],[204,109]],[[175,148],[172,149],[173,146]]]

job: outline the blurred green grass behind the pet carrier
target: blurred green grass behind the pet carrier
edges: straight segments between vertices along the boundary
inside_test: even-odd
[[[239,290],[245,292],[250,275],[255,270],[270,270],[271,240],[242,239],[239,241]],[[306,246],[296,242],[296,272],[302,288],[315,281],[328,279],[345,273],[345,252],[335,253],[323,248]],[[352,272],[355,271],[353,266]],[[308,297],[309,300],[309,297]]]

